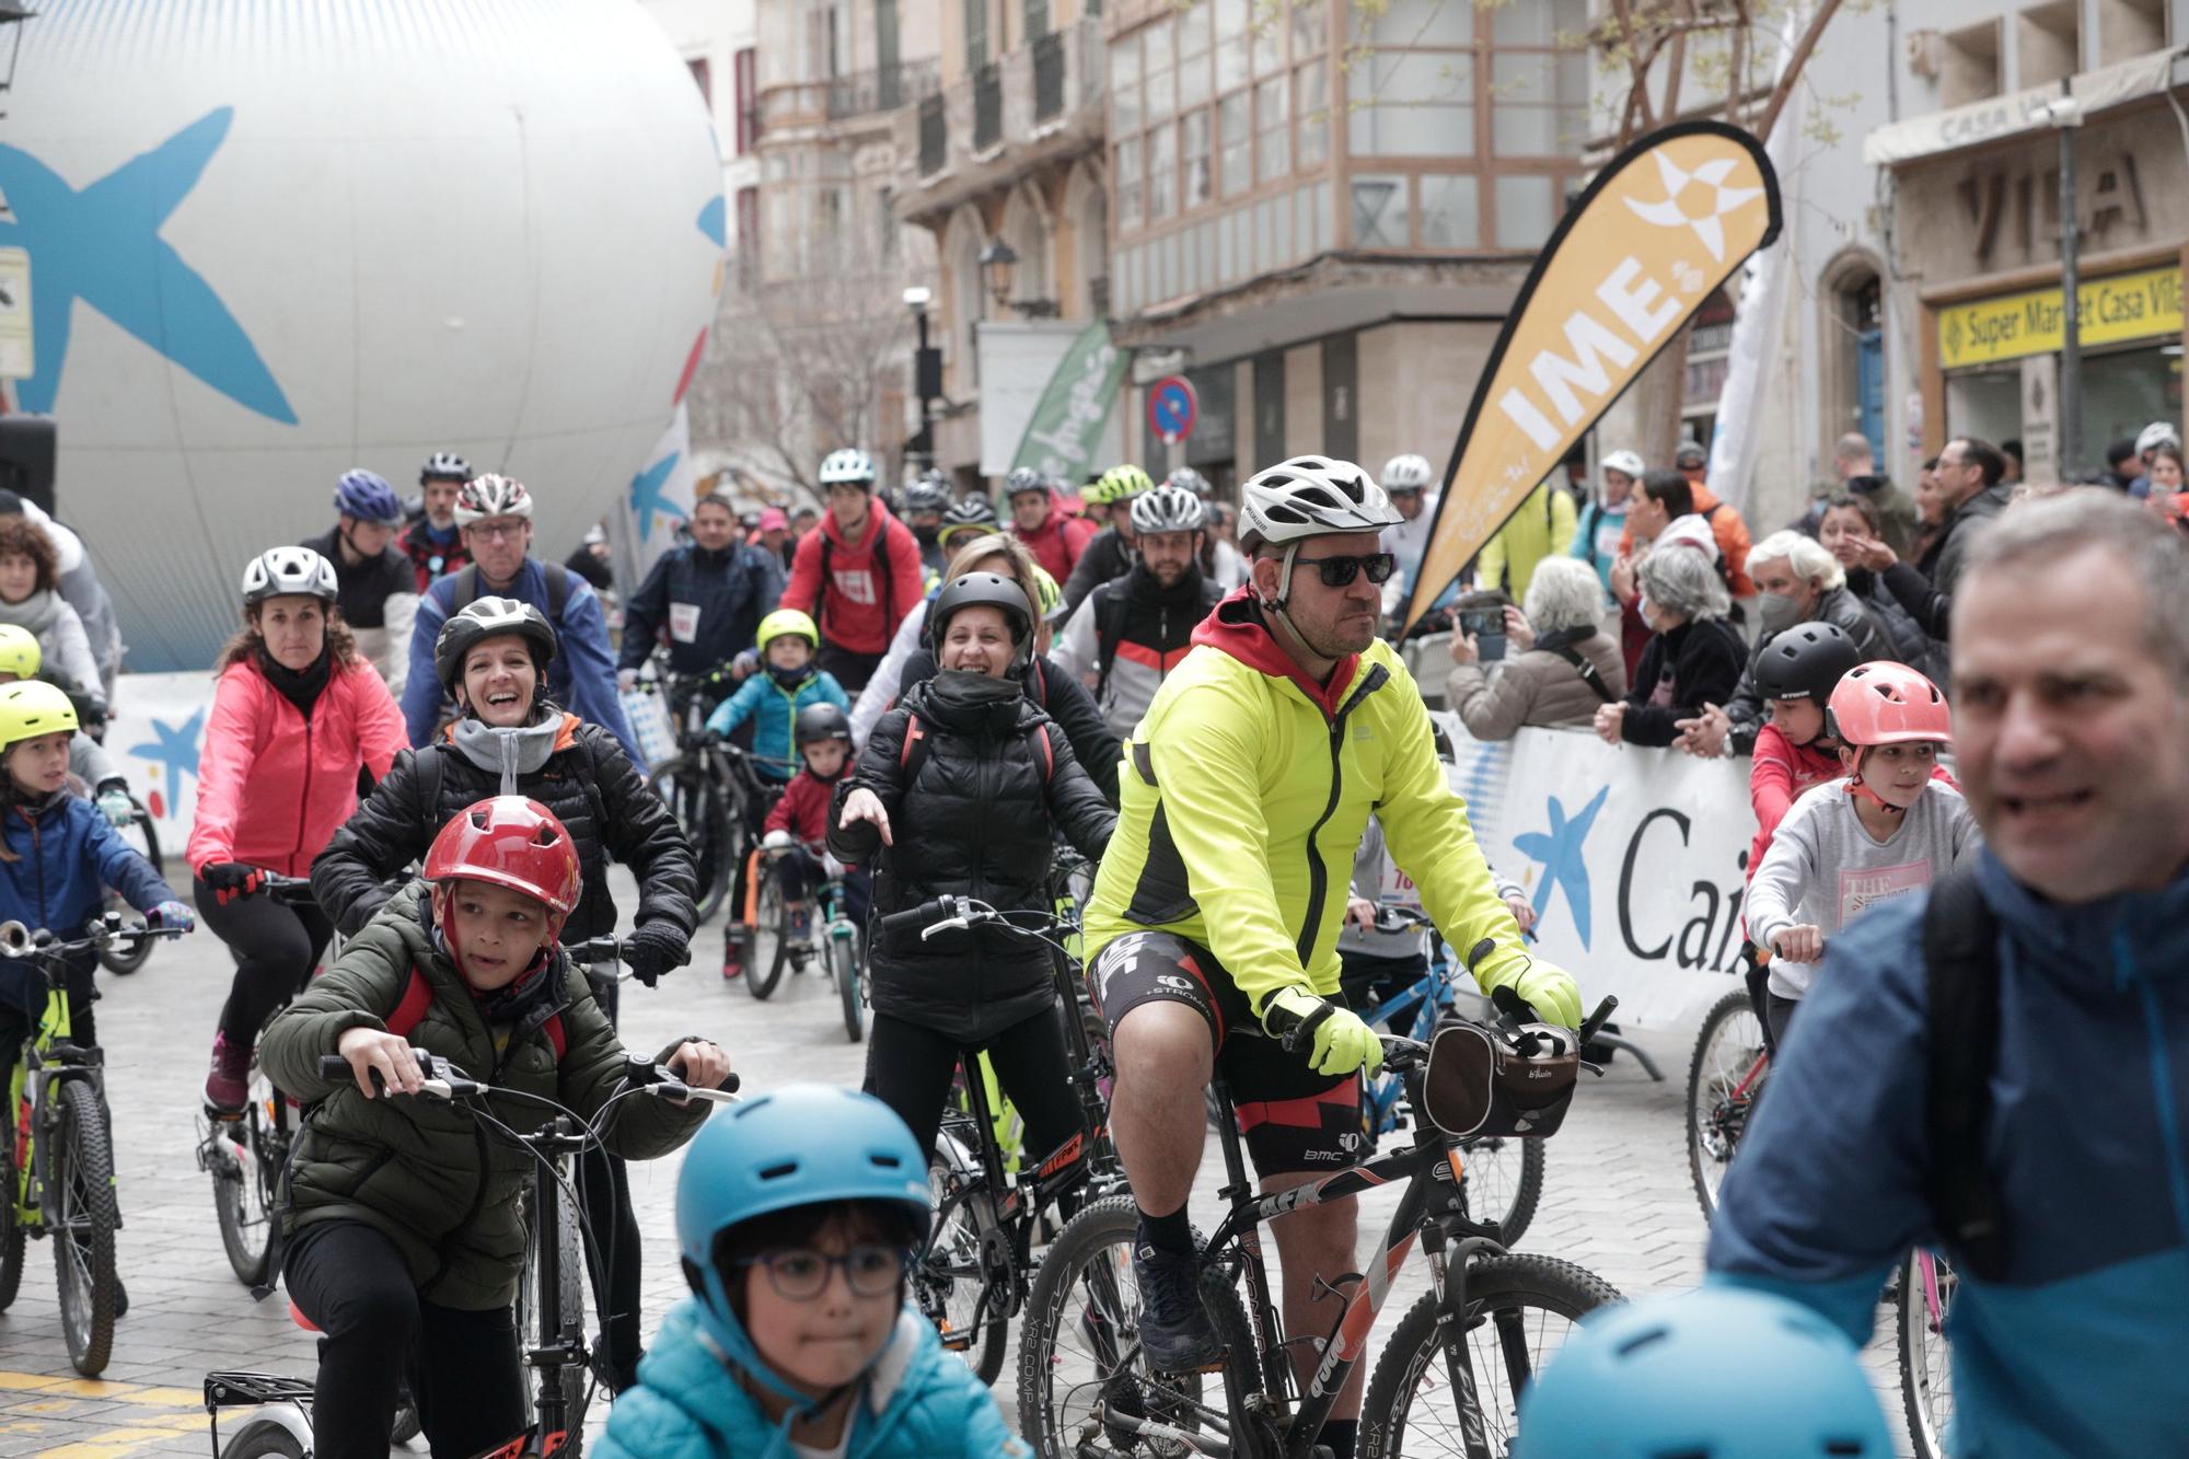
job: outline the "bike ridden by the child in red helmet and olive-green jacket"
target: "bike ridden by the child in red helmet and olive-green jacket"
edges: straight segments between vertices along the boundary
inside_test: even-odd
[[[626,1098],[652,1095],[676,1100],[733,1102],[738,1076],[722,1089],[694,1089],[670,1069],[657,1067],[650,1058],[630,1056],[624,1062],[624,1089],[619,1089],[591,1124],[576,1113],[556,1106],[554,1119],[532,1135],[510,1130],[488,1108],[493,1084],[473,1080],[451,1060],[427,1049],[414,1049],[420,1071],[427,1076],[418,1098],[447,1100],[473,1113],[479,1128],[521,1144],[534,1161],[532,1185],[525,1194],[528,1236],[532,1231],[563,1231],[571,1220],[582,1225],[576,1192],[569,1185],[571,1157],[595,1144],[609,1113]],[[352,1078],[350,1062],[339,1054],[320,1058],[320,1073],[328,1080]],[[374,1087],[381,1089],[374,1073]],[[538,1095],[521,1095],[528,1102],[543,1102]],[[549,1102],[552,1104],[552,1102]],[[582,1444],[584,1406],[591,1395],[589,1378],[593,1354],[584,1341],[584,1319],[571,1319],[565,1301],[584,1288],[584,1260],[571,1257],[563,1240],[538,1244],[536,1266],[528,1268],[525,1286],[538,1303],[536,1325],[519,1328],[523,1363],[532,1374],[532,1406],[538,1415],[523,1433],[506,1444],[488,1448],[479,1459],[532,1459],[558,1455],[576,1459]],[[571,1262],[576,1260],[576,1277]],[[571,1393],[578,1393],[576,1402]],[[212,1424],[212,1452],[219,1459],[311,1459],[311,1400],[313,1387],[302,1378],[254,1371],[206,1374],[206,1413]],[[221,1413],[225,1409],[256,1409],[241,1428],[221,1444]]]

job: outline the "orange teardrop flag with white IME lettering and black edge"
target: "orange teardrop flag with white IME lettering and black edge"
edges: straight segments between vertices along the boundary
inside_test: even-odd
[[[1777,234],[1777,177],[1738,127],[1653,131],[1596,175],[1537,254],[1475,383],[1408,624],[1703,300]]]

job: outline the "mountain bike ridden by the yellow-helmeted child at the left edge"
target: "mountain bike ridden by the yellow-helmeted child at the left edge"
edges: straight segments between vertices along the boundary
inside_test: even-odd
[[[68,960],[105,946],[177,938],[179,927],[125,927],[105,914],[74,942],[22,922],[0,922],[0,957],[28,964],[46,988],[46,1008],[15,1052],[9,1076],[11,1139],[0,1141],[0,1312],[22,1288],[24,1242],[53,1238],[68,1360],[96,1378],[114,1352],[123,1282],[114,1233],[123,1211],[114,1181],[114,1115],[107,1108],[105,1052],[72,1041]],[[96,990],[92,992],[96,999]]]

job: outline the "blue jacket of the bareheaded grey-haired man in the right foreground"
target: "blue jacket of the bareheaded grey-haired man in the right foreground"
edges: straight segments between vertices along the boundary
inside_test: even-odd
[[[1955,1431],[1974,1455],[2180,1455],[2189,1334],[2189,872],[2055,907],[1992,852],[1999,1054],[1985,1157],[2012,1264],[1953,1299]],[[1922,900],[1826,951],[1710,1227],[1716,1279],[1795,1297],[1863,1343],[1887,1268],[1935,1247],[1924,1194]]]

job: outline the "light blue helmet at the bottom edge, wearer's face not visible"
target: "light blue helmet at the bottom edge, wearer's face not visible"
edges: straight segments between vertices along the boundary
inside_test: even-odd
[[[1727,1360],[1740,1382],[1725,1382]],[[1889,1457],[1854,1343],[1769,1293],[1705,1286],[1605,1308],[1519,1404],[1513,1459]]]

